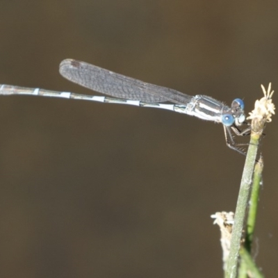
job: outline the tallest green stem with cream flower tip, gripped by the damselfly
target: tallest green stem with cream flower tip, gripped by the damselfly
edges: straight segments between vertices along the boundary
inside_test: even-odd
[[[259,140],[263,134],[265,123],[271,122],[271,117],[275,114],[275,105],[272,103],[272,95],[274,91],[271,91],[271,83],[268,85],[267,91],[263,85],[261,85],[261,88],[263,89],[264,97],[260,100],[256,100],[254,110],[250,113],[250,116],[247,117],[247,120],[252,120],[250,145],[243,169],[243,177],[240,183],[238,202],[236,204],[234,226],[231,233],[231,247],[229,259],[227,261],[227,271],[225,272],[226,278],[236,278],[238,270],[238,253],[240,250],[240,241],[243,233],[243,224],[245,220],[245,213],[247,211],[248,198],[250,196],[250,186],[252,182],[254,164],[256,161],[256,154],[258,152]],[[257,203],[257,199],[254,199],[254,202]],[[254,211],[256,211],[256,209]],[[253,219],[250,222],[250,227],[248,227],[248,229],[250,229],[250,238],[248,238],[248,240],[251,240],[250,243],[252,242],[255,217],[256,213],[253,213]]]

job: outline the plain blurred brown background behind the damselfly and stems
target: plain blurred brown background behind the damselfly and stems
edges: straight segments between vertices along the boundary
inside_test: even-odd
[[[0,3],[1,83],[95,95],[65,58],[246,111],[278,92],[277,1]],[[274,95],[274,101],[277,96]],[[222,277],[245,158],[222,126],[152,108],[0,97],[1,277]],[[265,130],[256,262],[278,272],[277,119]]]

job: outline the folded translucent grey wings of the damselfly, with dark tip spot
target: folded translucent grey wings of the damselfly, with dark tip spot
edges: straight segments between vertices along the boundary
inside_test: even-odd
[[[60,74],[85,88],[120,99],[170,101],[175,104],[187,104],[192,99],[177,90],[145,83],[78,60],[63,60],[60,63]]]

